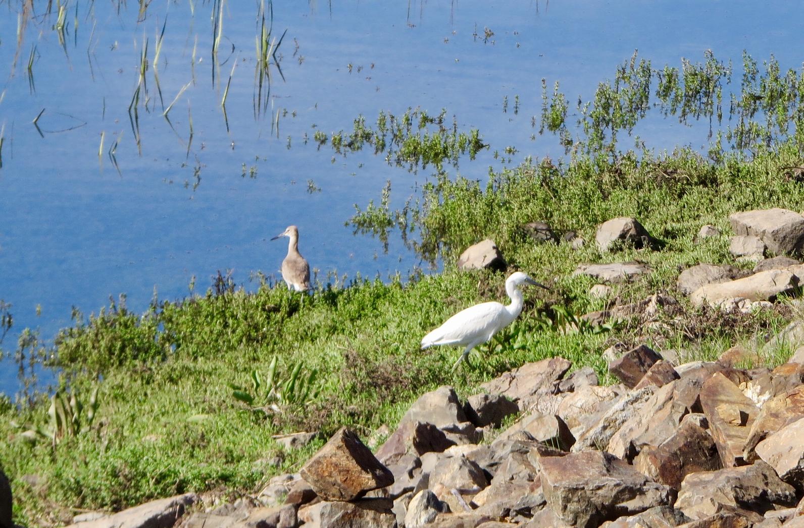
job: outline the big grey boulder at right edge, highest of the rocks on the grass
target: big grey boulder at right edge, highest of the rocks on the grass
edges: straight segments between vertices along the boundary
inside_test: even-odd
[[[804,217],[789,209],[734,213],[728,221],[735,234],[761,238],[773,254],[799,254],[804,246]]]

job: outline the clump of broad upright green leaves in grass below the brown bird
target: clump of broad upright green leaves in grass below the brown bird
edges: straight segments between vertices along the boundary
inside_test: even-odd
[[[278,359],[274,355],[268,367],[265,380],[253,370],[249,376],[251,388],[228,384],[232,389],[232,397],[243,402],[253,412],[281,412],[283,408],[308,404],[318,397],[321,388],[318,386],[318,369],[307,369],[299,361],[285,372],[277,372]]]

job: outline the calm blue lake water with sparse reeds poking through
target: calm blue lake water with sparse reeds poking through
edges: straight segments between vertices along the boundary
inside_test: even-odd
[[[317,131],[351,132],[356,117],[374,124],[380,111],[445,109],[447,124],[454,117],[490,145],[445,169],[485,181],[489,167],[562,156],[531,124],[542,78],[551,89],[560,81],[572,113],[635,49],[654,68],[711,49],[735,76],[744,49],[760,61],[773,53],[783,68],[804,59],[794,2],[274,2],[269,42],[286,30],[273,55],[281,72],[272,61],[258,91],[260,2],[151,2],[141,14],[136,2],[67,0],[62,22],[35,2],[18,43],[21,3],[0,2],[0,299],[14,315],[0,344],[6,394],[19,388],[12,356],[23,328],[50,343],[72,307],[88,315],[125,294],[143,311],[154,292],[189,294],[193,277],[203,293],[218,270],[256,289],[257,272],[278,276],[287,246],[269,239],[289,224],[324,283],[335,271],[430,271],[398,236],[386,251],[345,222],[355,204],[379,201],[386,181],[398,207],[435,169],[409,171],[371,148],[343,156],[319,148]],[[659,116],[638,125],[658,150],[701,148],[707,131]],[[507,147],[515,153],[494,156]]]

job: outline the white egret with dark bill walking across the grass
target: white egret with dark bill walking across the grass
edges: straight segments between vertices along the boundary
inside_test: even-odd
[[[545,290],[550,289],[528,277],[527,274],[517,271],[511,274],[505,282],[505,290],[508,297],[511,298],[511,304],[505,306],[503,303],[491,301],[461,310],[447,319],[440,327],[425,335],[424,339],[421,339],[421,348],[424,350],[435,345],[465,346],[463,354],[453,365],[453,370],[455,370],[461,361],[466,360],[474,347],[480,343],[486,343],[494,337],[494,334],[514,322],[522,311],[523,298],[522,291],[519,290],[519,286],[522,284],[541,286]]]

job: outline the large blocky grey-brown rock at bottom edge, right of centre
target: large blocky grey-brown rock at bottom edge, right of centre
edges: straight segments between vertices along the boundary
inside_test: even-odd
[[[651,481],[609,453],[544,457],[542,489],[548,505],[572,526],[599,526],[622,515],[669,505],[673,490]]]

